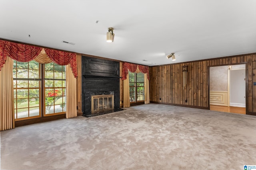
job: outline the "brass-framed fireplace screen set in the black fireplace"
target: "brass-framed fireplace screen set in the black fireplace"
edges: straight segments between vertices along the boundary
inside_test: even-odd
[[[92,96],[92,114],[114,109],[114,95]]]

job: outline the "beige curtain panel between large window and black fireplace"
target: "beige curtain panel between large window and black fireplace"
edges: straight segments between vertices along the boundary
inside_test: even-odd
[[[76,78],[72,72],[70,64],[66,65],[66,118],[77,117],[76,112]]]

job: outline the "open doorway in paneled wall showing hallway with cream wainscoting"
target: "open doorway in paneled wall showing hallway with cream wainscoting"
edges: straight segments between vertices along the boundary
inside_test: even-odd
[[[246,114],[245,67],[210,67],[210,110]]]

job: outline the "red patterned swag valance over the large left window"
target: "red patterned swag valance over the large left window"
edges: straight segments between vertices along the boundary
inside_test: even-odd
[[[41,47],[0,40],[0,70],[5,63],[7,56],[16,61],[29,62],[34,60],[39,55],[41,50]],[[68,53],[53,49],[45,49],[45,51],[54,63],[60,65],[70,64],[74,77],[77,77],[75,53]]]

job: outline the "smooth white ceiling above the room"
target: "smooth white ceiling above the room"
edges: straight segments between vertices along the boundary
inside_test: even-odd
[[[255,53],[256,0],[0,0],[0,38],[148,66]]]

